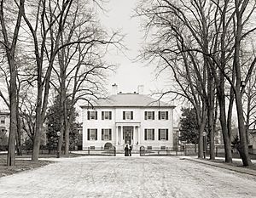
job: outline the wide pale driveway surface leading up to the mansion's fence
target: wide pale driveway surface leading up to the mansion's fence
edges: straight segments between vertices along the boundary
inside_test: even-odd
[[[0,197],[256,197],[256,178],[176,156],[83,156],[0,178]]]

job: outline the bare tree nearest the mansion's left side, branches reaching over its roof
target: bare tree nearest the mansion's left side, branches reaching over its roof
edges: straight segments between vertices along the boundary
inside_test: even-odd
[[[58,150],[61,153],[65,131],[66,155],[69,151],[69,120],[73,120],[73,115],[67,115],[70,111],[67,110],[67,98],[71,99],[71,106],[75,106],[79,100],[83,99],[90,103],[91,99],[102,97],[105,71],[112,69],[113,66],[103,62],[102,57],[109,45],[120,46],[121,39],[117,32],[108,38],[108,34],[96,25],[95,14],[86,9],[86,6],[79,1],[73,3],[73,14],[68,18],[70,22],[61,35],[61,46],[64,47],[58,52],[58,68],[54,68],[58,83],[52,84],[60,95],[63,114]]]

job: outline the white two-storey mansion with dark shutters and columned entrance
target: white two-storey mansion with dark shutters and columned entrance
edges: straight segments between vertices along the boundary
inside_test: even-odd
[[[117,93],[99,99],[93,108],[83,109],[83,150],[102,148],[112,144],[124,150],[132,144],[148,149],[172,148],[173,105],[156,101],[139,93]]]

